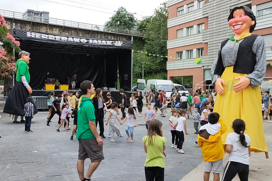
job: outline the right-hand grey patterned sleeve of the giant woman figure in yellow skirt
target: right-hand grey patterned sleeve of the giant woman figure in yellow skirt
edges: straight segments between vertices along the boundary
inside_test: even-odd
[[[265,71],[266,71],[266,52],[264,38],[258,36],[253,43],[252,51],[256,54],[256,65],[254,71],[247,76],[251,87],[258,87],[261,85]]]

